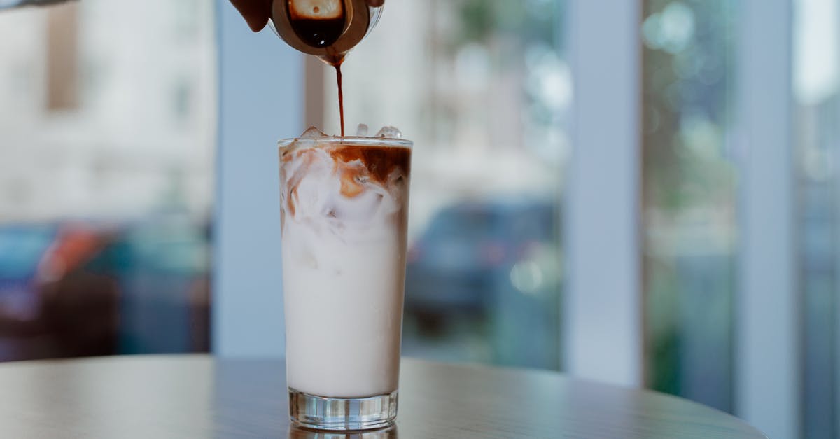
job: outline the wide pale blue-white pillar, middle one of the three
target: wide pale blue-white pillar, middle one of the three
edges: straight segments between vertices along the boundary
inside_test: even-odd
[[[575,98],[564,203],[565,369],[638,386],[641,2],[567,4]]]

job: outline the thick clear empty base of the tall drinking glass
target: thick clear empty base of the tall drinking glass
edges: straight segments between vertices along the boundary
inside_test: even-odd
[[[385,428],[396,418],[396,390],[368,398],[325,398],[289,388],[289,415],[294,426],[330,431]]]

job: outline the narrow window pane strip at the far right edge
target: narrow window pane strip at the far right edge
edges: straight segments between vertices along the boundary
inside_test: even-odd
[[[793,35],[804,437],[837,436],[837,0],[796,0]]]

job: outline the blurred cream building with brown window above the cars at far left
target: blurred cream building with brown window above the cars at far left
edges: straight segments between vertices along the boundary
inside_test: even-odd
[[[213,29],[200,1],[0,13],[0,222],[206,217]]]

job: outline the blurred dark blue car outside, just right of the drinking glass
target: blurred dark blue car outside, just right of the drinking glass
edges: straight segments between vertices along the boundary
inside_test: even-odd
[[[557,218],[532,199],[442,209],[408,251],[407,331],[438,344],[470,333],[489,352],[451,359],[557,368]]]

